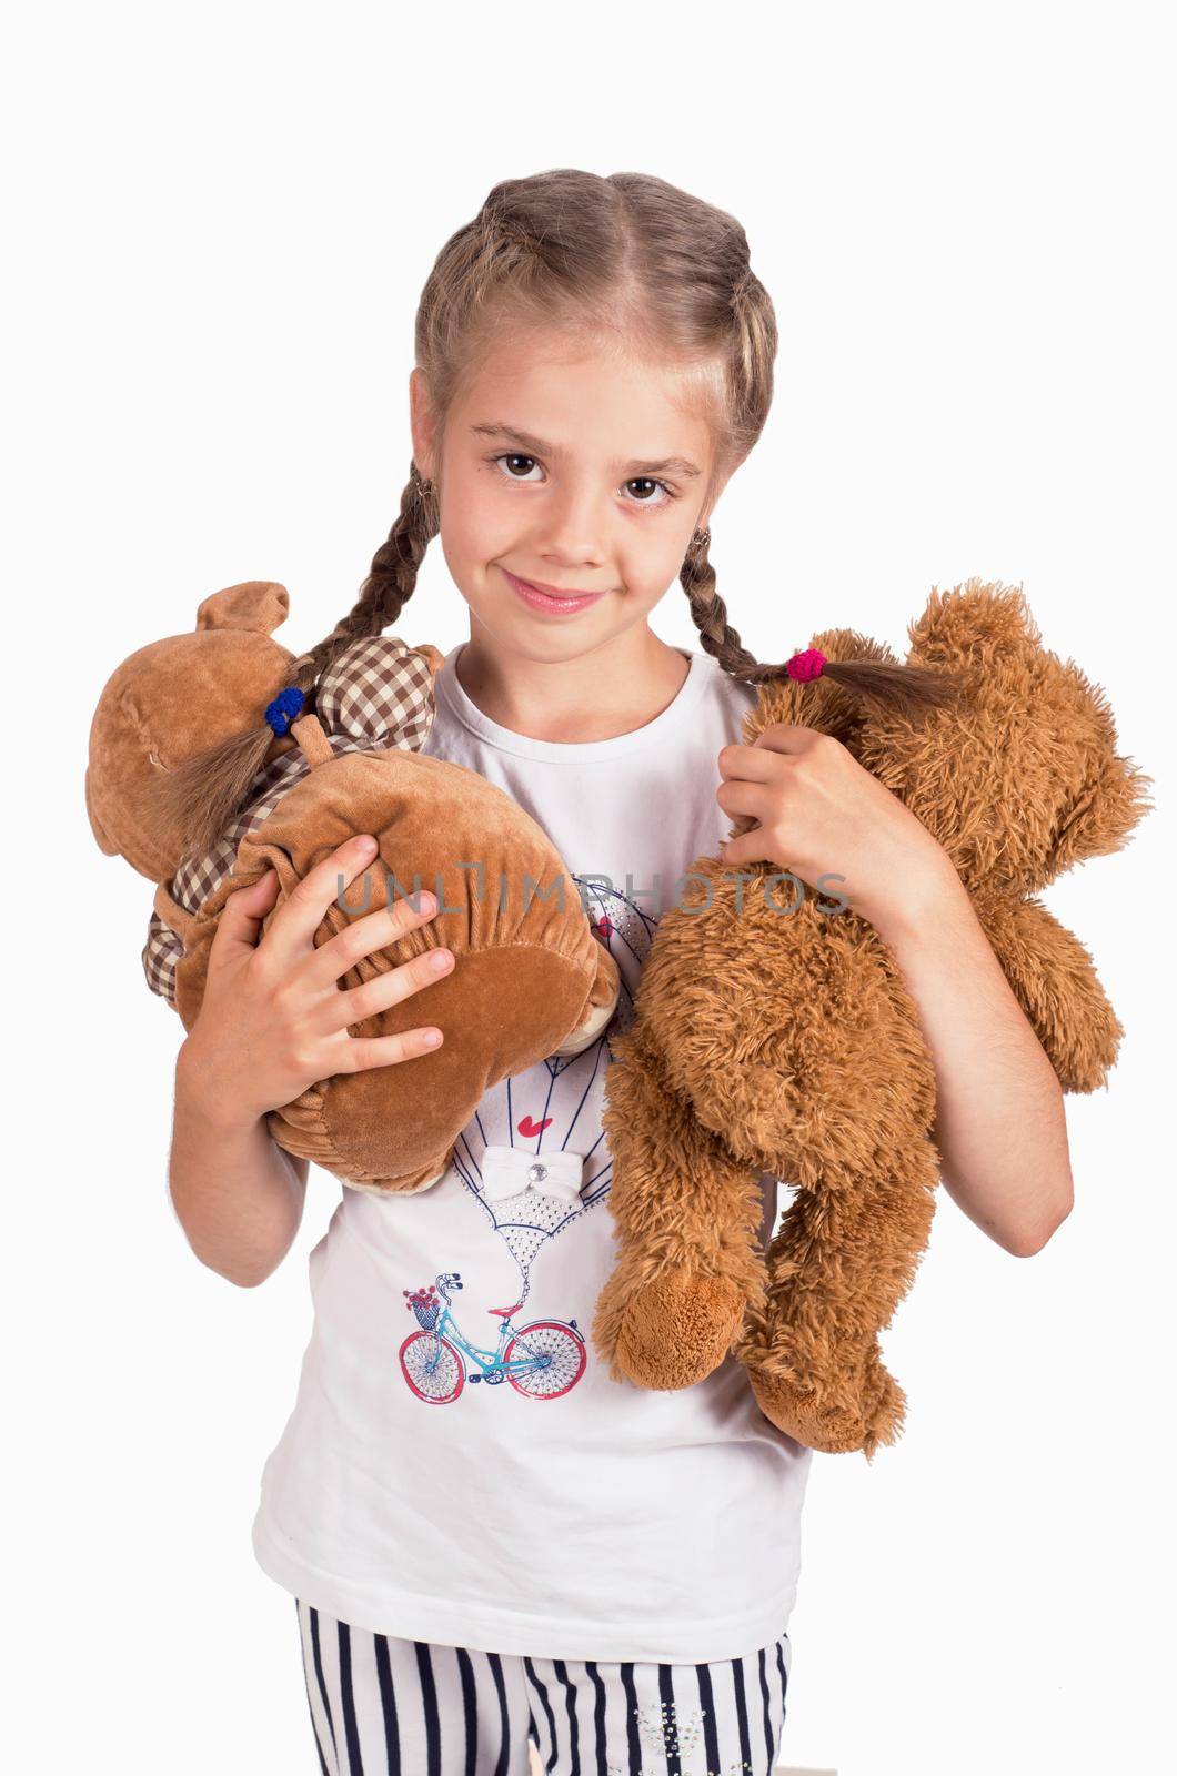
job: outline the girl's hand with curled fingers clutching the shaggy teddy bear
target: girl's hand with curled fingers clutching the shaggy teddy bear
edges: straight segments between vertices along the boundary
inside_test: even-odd
[[[830,733],[777,721],[754,746],[724,746],[718,767],[724,813],[759,821],[720,847],[731,868],[768,860],[818,890],[832,877],[825,892],[877,929],[960,886],[923,821]]]

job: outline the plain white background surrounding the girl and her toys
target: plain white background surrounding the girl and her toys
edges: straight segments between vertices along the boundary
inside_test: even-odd
[[[1165,1762],[1163,23],[1145,5],[238,0],[41,5],[9,32],[14,1769],[316,1769],[295,1606],[249,1524],[340,1186],[313,1174],[261,1289],[188,1252],[165,1195],[181,1030],[140,975],[149,884],[85,822],[89,718],[126,654],[231,581],[290,588],[293,650],[350,607],[409,464],[432,259],[491,185],[556,165],[656,172],[749,231],[779,392],[711,556],[757,657],[830,623],[901,643],[932,584],[1021,583],[1156,778],[1131,847],[1047,895],[1127,1027],[1109,1089],[1069,1103],[1074,1213],[1015,1259],[942,1195],[884,1341],[907,1431],[869,1467],[814,1458],[784,1762]],[[464,614],[436,551],[402,630],[448,648]],[[697,645],[677,588],[656,629]]]

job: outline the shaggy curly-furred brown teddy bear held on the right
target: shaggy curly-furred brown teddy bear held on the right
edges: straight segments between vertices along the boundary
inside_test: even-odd
[[[900,796],[957,865],[1063,1090],[1092,1092],[1122,1028],[1037,895],[1124,845],[1150,780],[1117,755],[1102,693],[1040,645],[1019,590],[933,593],[909,639],[909,664],[951,677],[939,707],[864,703],[827,675],[773,682],[743,741],[773,723],[832,733]],[[846,630],[813,646],[894,662]],[[903,1421],[878,1334],[932,1224],[935,1078],[873,927],[811,886],[788,911],[775,872],[699,858],[656,931],[606,1076],[619,1245],[592,1337],[615,1378],[654,1389],[688,1387],[731,1350],[773,1424],[869,1462]],[[761,1172],[797,1186],[766,1256]]]

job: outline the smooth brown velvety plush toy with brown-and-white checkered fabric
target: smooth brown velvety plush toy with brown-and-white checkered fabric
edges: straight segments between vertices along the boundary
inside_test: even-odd
[[[596,1041],[617,1003],[617,964],[542,828],[475,771],[418,751],[432,726],[436,648],[395,636],[352,641],[320,675],[315,709],[286,716],[279,732],[293,655],[270,634],[286,609],[286,590],[270,581],[228,586],[199,606],[196,630],[124,661],[91,725],[85,806],[101,849],[156,883],[144,968],[187,1030],[226,899],[267,868],[279,876],[279,899],[263,932],[322,858],[354,833],[379,840],[372,865],[327,909],[316,945],[420,886],[436,892],[432,920],[361,957],[340,986],[450,948],[450,975],[350,1030],[436,1023],[443,1046],[322,1080],[268,1115],[281,1147],[352,1188],[425,1190],[491,1085]],[[251,757],[263,710],[274,737],[261,769],[245,765],[228,831],[194,845],[165,792],[169,774],[199,769],[238,737]]]

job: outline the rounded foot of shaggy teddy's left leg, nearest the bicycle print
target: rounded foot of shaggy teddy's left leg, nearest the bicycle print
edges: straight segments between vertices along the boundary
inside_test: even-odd
[[[665,1272],[629,1293],[613,1364],[637,1387],[677,1389],[722,1364],[743,1325],[745,1296],[724,1277]]]

